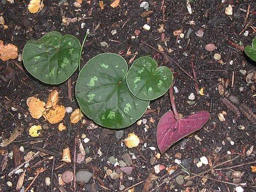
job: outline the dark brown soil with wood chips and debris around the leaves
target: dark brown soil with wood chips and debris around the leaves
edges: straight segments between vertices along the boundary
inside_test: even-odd
[[[251,167],[256,165],[256,153],[253,150],[256,120],[252,114],[256,114],[256,81],[254,78],[248,83],[248,78],[246,79],[248,74],[255,73],[255,61],[238,49],[250,45],[255,36],[256,2],[190,1],[193,13],[189,14],[186,1],[150,0],[148,10],[153,13],[145,18],[140,16],[147,11],[140,7],[141,2],[121,0],[119,6],[112,8],[110,1],[103,1],[106,5],[101,10],[96,0],[83,1],[81,8],[74,7],[74,1],[67,1],[63,5],[59,4],[59,1],[46,0],[44,8],[39,13],[32,14],[28,11],[28,0],[14,0],[13,4],[2,0],[0,15],[3,16],[8,29],[0,25],[0,40],[3,40],[4,44],[14,44],[18,48],[18,54],[22,54],[29,39],[41,38],[45,33],[58,31],[62,35],[71,34],[82,42],[87,29],[90,29],[83,47],[81,67],[99,53],[117,53],[127,62],[134,56],[135,59],[145,55],[151,56],[156,59],[158,65],[172,69],[175,75],[174,86],[178,88],[178,93],[174,95],[178,113],[186,116],[206,110],[210,113],[209,121],[194,135],[177,142],[161,154],[159,159],[150,163],[150,159],[153,161],[155,155],[160,153],[156,143],[159,119],[172,109],[167,93],[150,103],[150,109],[141,117],[147,120],[146,124],[134,123],[123,129],[124,134],[120,139],[116,138],[118,130],[100,126],[97,129],[89,129],[89,124],[82,124],[80,121],[71,124],[70,114],[61,121],[67,126],[67,130],[60,132],[57,124],[50,124],[43,121],[43,118],[33,119],[26,101],[34,96],[46,102],[49,93],[57,90],[60,96],[59,104],[71,106],[73,110],[79,108],[74,95],[78,70],[70,77],[72,94],[69,96],[68,81],[50,86],[33,78],[18,58],[0,60],[0,141],[9,138],[15,129],[23,130],[15,141],[0,148],[0,191],[24,191],[33,178],[35,181],[28,189],[30,191],[129,191],[128,188],[133,185],[134,191],[256,191],[255,171],[252,172]],[[225,14],[225,8],[229,4],[233,9],[232,15]],[[63,17],[77,19],[67,24],[62,21]],[[151,27],[149,31],[143,29],[145,24]],[[164,31],[159,33],[161,24],[164,24]],[[177,39],[177,36],[173,35],[173,32],[179,29],[182,29],[184,38]],[[117,31],[114,35],[113,30]],[[140,30],[137,35],[136,30]],[[191,33],[188,34],[190,30]],[[196,35],[198,30],[204,32],[203,37]],[[248,36],[244,35],[245,31],[249,32]],[[102,47],[102,41],[109,46]],[[210,43],[216,45],[214,51],[205,50],[205,45]],[[158,50],[159,46],[162,46],[163,52]],[[130,53],[127,53],[129,51]],[[214,59],[215,53],[221,54],[221,60]],[[191,65],[195,65],[198,87],[199,90],[204,89],[204,94],[198,94],[195,81],[175,62],[191,76]],[[10,71],[13,70],[14,76],[9,77]],[[241,70],[245,70],[245,73],[242,74]],[[192,105],[187,103],[190,93],[196,96]],[[228,102],[231,95],[239,100],[233,103],[235,108]],[[232,98],[231,100],[233,101]],[[225,121],[219,120],[219,113],[224,114]],[[154,121],[150,121],[151,118]],[[90,121],[87,117],[83,119]],[[29,135],[29,127],[33,124],[45,125],[38,138]],[[123,144],[122,140],[129,133],[135,133],[140,138],[139,146],[127,148]],[[89,146],[87,149],[90,148],[90,153],[86,154],[85,158],[87,161],[91,158],[91,161],[74,163],[73,157],[77,159],[77,154],[80,153],[75,143],[82,134],[90,139],[88,143],[82,141],[82,145],[85,148]],[[21,146],[24,151],[17,150]],[[24,157],[30,151],[37,152],[35,146],[45,146],[48,154],[50,151],[56,157],[52,158],[47,152],[40,153],[26,168],[21,167],[23,171],[26,170],[24,179],[21,177],[22,173],[8,176],[20,163],[25,162]],[[66,147],[70,148],[71,163],[61,161],[62,150]],[[152,150],[150,147],[156,149]],[[15,153],[12,156],[13,151]],[[99,152],[102,154],[99,155]],[[122,160],[124,153],[133,157],[130,175],[122,172],[120,165],[114,166],[109,162],[111,156],[118,161]],[[202,156],[207,157],[208,164],[198,167],[197,163]],[[175,163],[175,159],[181,160],[190,177]],[[156,171],[156,165],[164,166],[160,173]],[[167,172],[165,167],[172,167],[175,172]],[[39,168],[44,170],[35,177]],[[112,179],[107,176],[107,169],[120,173],[121,178]],[[66,170],[75,173],[88,170],[93,173],[93,177],[88,183],[71,182],[59,185],[56,177]],[[235,171],[241,172],[242,176],[234,178]],[[177,183],[178,175],[185,179],[183,183]],[[151,179],[154,176],[157,178]],[[46,185],[46,177],[51,178],[49,186]],[[24,181],[20,186],[17,186],[18,179]],[[243,190],[239,190],[239,186]]]

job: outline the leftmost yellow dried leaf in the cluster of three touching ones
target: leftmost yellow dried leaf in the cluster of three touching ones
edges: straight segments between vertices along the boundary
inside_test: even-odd
[[[29,107],[30,115],[34,119],[39,119],[44,113],[44,111],[46,111],[46,103],[44,101],[40,101],[40,99],[37,99],[35,97],[29,97],[27,99],[27,105]]]

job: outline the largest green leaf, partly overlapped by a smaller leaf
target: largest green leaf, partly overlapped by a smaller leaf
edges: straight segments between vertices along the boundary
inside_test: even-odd
[[[136,98],[128,89],[127,63],[114,53],[90,59],[79,73],[76,83],[78,104],[97,124],[120,129],[133,124],[146,111],[148,101]]]

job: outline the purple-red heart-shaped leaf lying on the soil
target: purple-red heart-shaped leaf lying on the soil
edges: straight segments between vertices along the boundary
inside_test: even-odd
[[[164,153],[174,143],[187,135],[200,130],[209,120],[210,114],[200,111],[176,119],[173,111],[165,113],[157,125],[157,146]]]

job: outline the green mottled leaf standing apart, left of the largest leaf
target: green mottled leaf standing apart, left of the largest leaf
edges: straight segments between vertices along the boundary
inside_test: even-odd
[[[53,31],[38,40],[29,40],[23,50],[23,63],[28,72],[42,82],[59,84],[77,69],[79,40]]]

